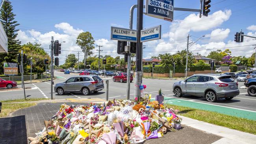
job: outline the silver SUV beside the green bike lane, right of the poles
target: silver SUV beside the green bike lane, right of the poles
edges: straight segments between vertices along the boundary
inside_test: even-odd
[[[195,74],[173,84],[175,96],[182,94],[201,96],[208,102],[215,102],[218,98],[231,100],[239,95],[238,83],[231,76],[221,74]]]

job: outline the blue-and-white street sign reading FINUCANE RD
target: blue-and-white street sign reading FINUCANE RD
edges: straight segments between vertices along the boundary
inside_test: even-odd
[[[141,42],[161,39],[161,25],[141,30]]]

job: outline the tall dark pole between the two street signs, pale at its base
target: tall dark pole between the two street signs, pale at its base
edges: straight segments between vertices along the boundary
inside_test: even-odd
[[[141,30],[143,26],[143,0],[137,0],[137,45],[136,45],[136,73],[135,73],[135,98],[138,100],[141,97],[141,90],[139,86],[142,83],[142,71],[141,71],[141,61],[142,61],[142,42],[141,42]]]

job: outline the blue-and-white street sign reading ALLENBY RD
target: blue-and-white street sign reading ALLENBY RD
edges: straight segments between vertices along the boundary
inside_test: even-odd
[[[111,26],[111,39],[118,41],[137,42],[137,30]]]

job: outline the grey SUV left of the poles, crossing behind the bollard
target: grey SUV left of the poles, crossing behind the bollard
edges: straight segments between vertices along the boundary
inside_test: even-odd
[[[98,92],[104,89],[103,80],[99,76],[76,76],[67,79],[63,83],[57,83],[54,91],[59,95],[65,92],[82,92],[84,95],[89,95],[90,92]]]

